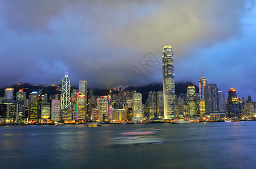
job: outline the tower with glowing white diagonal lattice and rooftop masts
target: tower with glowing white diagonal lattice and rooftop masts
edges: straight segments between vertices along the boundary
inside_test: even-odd
[[[61,81],[61,109],[71,109],[69,73]]]

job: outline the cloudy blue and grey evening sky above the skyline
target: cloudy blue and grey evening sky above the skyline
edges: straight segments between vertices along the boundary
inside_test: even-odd
[[[59,84],[65,72],[72,86],[161,83],[170,45],[176,82],[203,73],[225,97],[233,87],[256,100],[255,18],[244,0],[0,0],[0,87]]]

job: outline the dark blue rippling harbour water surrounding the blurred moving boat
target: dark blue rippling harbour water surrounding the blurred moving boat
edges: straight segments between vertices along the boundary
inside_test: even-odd
[[[254,168],[256,122],[0,127],[1,168]],[[112,145],[139,128],[161,144]],[[155,130],[148,130],[155,131]]]

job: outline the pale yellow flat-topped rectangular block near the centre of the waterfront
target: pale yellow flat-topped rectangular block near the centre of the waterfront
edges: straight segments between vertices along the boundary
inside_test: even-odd
[[[142,119],[142,94],[133,94],[133,121]]]

